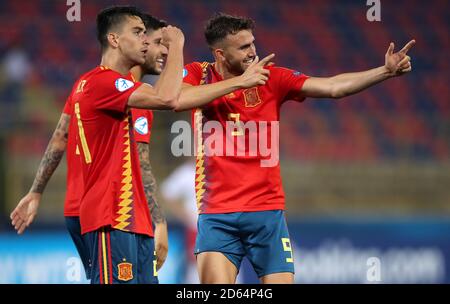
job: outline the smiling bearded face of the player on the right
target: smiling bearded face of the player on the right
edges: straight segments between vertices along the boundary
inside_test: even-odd
[[[256,57],[255,37],[250,30],[227,35],[223,46],[225,66],[232,74],[244,73]]]

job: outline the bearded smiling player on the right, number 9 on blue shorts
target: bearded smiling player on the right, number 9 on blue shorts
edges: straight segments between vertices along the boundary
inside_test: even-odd
[[[371,70],[319,78],[272,65],[266,67],[270,75],[265,83],[238,89],[233,85],[236,77],[258,62],[253,29],[251,19],[215,15],[205,29],[215,62],[185,66],[180,96],[185,107],[179,110],[213,100],[193,111],[199,146],[195,189],[200,213],[195,254],[202,283],[234,283],[244,256],[262,283],[294,281],[279,162],[272,167],[261,166],[264,156],[260,151],[249,156],[248,146],[245,156],[208,155],[202,145],[217,134],[202,131],[203,127],[217,121],[226,130],[227,121],[232,121],[235,128],[221,142],[240,140],[251,133],[242,128],[244,123],[277,124],[280,107],[287,100],[341,98],[411,71],[407,52],[414,40],[397,53],[391,43],[384,65]]]

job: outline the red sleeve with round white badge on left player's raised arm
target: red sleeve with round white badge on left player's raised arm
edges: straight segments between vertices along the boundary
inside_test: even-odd
[[[121,113],[126,112],[128,98],[141,85],[141,82],[134,82],[111,70],[98,73],[89,81],[95,108]]]

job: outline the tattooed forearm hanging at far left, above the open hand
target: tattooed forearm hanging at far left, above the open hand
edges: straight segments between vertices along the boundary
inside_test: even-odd
[[[36,177],[30,192],[42,193],[47,186],[50,177],[61,161],[66,150],[67,137],[69,134],[70,115],[62,114],[58,126],[47,146],[44,157],[41,160]]]

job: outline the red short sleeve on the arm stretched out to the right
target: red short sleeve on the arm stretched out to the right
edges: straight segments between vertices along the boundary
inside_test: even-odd
[[[274,74],[278,77],[278,93],[281,102],[288,100],[302,102],[305,100],[301,90],[306,79],[309,78],[308,76],[299,71],[281,67],[274,68],[274,71],[276,71]]]

